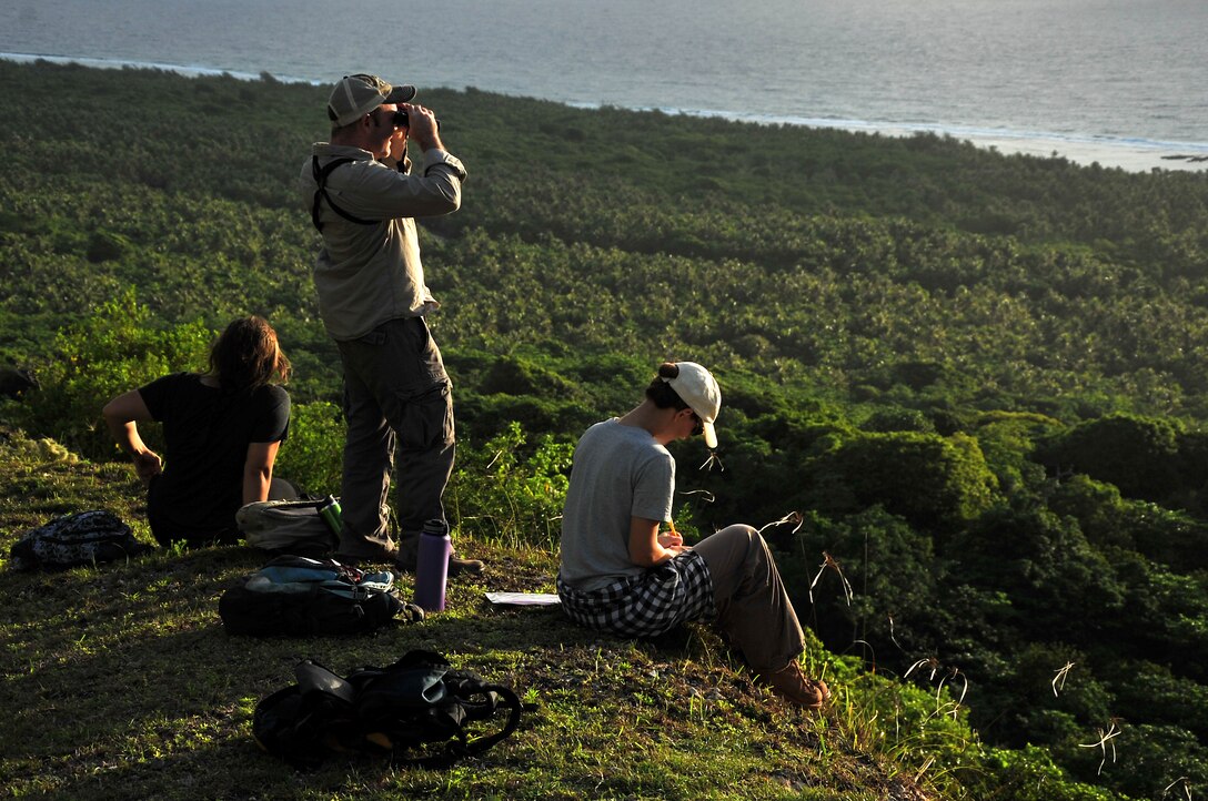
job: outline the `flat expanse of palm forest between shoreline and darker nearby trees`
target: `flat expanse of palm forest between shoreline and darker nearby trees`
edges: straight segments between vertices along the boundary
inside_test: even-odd
[[[172,320],[313,316],[292,179],[325,138],[324,87],[45,68],[81,97],[46,125],[28,122],[45,105],[22,90],[30,69],[2,71],[2,214],[30,249],[2,298],[5,355],[30,350],[29,316],[130,283]],[[1203,174],[422,97],[471,173],[464,209],[429,223],[447,341],[692,352],[916,407],[1206,416]]]

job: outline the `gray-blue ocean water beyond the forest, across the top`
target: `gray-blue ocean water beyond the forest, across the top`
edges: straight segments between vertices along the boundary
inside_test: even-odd
[[[4,0],[0,53],[949,133],[1208,169],[1204,0]],[[1175,158],[1180,157],[1180,158]]]

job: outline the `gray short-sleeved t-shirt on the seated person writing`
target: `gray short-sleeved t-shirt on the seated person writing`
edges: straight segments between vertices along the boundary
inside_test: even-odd
[[[646,568],[629,559],[631,518],[670,520],[675,460],[644,428],[598,422],[575,448],[562,513],[562,580],[592,591]]]

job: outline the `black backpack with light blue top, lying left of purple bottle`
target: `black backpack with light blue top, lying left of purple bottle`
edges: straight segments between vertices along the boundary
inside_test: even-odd
[[[424,610],[394,592],[394,574],[365,573],[331,559],[277,556],[219,598],[231,635],[364,635]]]

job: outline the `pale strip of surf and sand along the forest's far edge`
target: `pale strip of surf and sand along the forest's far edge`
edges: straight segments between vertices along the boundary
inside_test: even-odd
[[[190,66],[158,62],[112,60],[68,55],[37,55],[33,53],[0,53],[0,59],[22,64],[50,62],[52,64],[79,64],[91,69],[151,69],[178,72],[188,77],[230,75],[231,77],[259,81],[266,72],[242,72],[208,66]],[[269,72],[269,75],[272,75]],[[296,76],[272,75],[283,83],[309,83],[318,86],[320,81]],[[489,90],[489,89],[487,89]],[[546,98],[551,99],[551,98]],[[577,109],[599,109],[600,104],[574,103],[551,99],[554,103]],[[959,124],[941,123],[893,123],[859,119],[830,119],[811,117],[779,117],[766,113],[736,111],[703,111],[689,109],[635,107],[635,111],[661,111],[667,115],[686,117],[721,118],[736,122],[757,124],[784,124],[806,128],[831,128],[853,133],[881,134],[883,136],[913,136],[934,134],[951,136],[958,141],[968,141],[982,150],[1005,154],[1036,156],[1040,158],[1064,158],[1081,166],[1098,164],[1107,169],[1121,169],[1127,173],[1150,173],[1152,170],[1171,170],[1181,173],[1208,171],[1208,142],[1167,142],[1143,138],[1067,135],[1047,131],[1020,131],[1010,129],[988,129]]]

